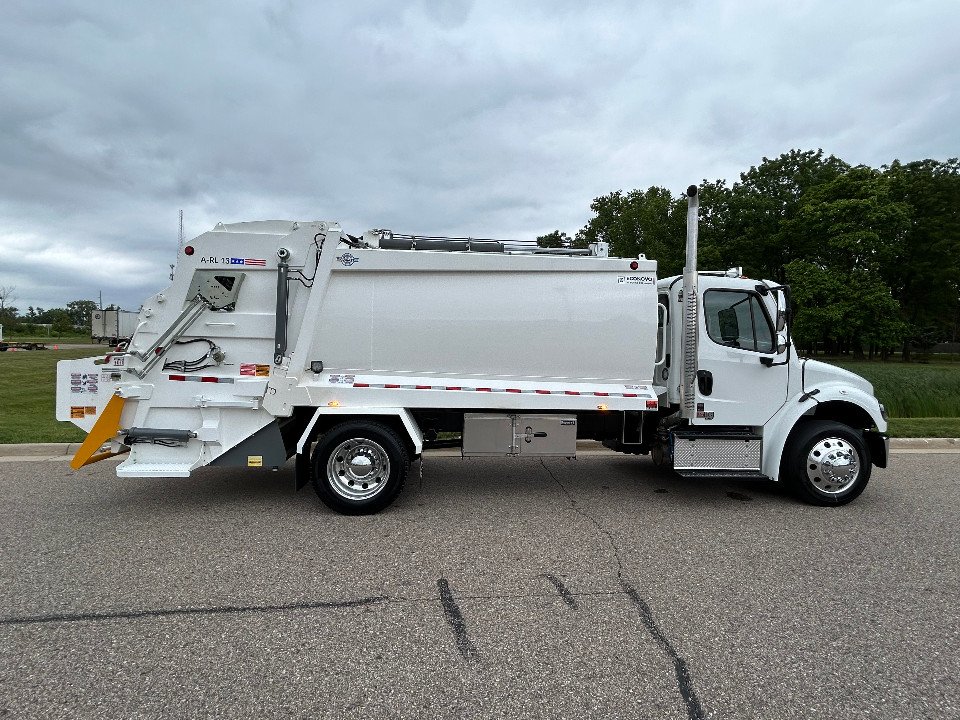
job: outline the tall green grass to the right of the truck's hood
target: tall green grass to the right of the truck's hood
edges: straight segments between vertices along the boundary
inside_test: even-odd
[[[873,390],[880,398],[880,402],[886,405],[890,417],[960,417],[960,365],[958,364],[848,362],[846,360],[829,362],[862,375],[873,383]]]

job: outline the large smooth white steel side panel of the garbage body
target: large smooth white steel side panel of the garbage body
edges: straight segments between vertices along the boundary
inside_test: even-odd
[[[652,380],[652,271],[631,272],[616,259],[426,252],[430,270],[355,269],[374,253],[417,254],[358,252],[355,265],[332,274],[311,353],[326,369]]]

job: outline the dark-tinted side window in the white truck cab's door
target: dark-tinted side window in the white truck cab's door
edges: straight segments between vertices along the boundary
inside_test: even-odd
[[[774,351],[773,326],[753,293],[708,290],[703,312],[710,339],[721,345],[770,353]]]

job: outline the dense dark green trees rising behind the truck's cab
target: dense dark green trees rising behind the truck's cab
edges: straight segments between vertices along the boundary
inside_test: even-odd
[[[700,184],[699,269],[743,267],[787,283],[792,332],[808,353],[909,360],[914,348],[960,337],[960,161],[850,165],[791,150]],[[603,240],[612,255],[644,253],[660,277],[682,272],[686,197],[667,188],[596,198],[594,216],[544,247]]]

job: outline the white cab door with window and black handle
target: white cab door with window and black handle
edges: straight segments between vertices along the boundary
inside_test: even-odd
[[[702,290],[695,425],[760,426],[786,402],[789,365],[776,363],[771,305],[742,287]]]

